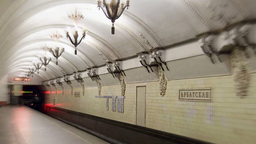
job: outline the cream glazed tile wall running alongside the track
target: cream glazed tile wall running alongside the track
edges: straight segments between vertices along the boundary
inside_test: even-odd
[[[124,113],[106,110],[106,99],[95,98],[97,87],[85,88],[85,96],[75,98],[70,89],[56,97],[57,106],[107,119],[136,124],[136,86],[126,84]],[[252,74],[249,96],[234,93],[233,76],[170,80],[166,95],[159,94],[159,82],[145,83],[146,127],[213,143],[256,143],[256,74]],[[211,102],[179,101],[181,88],[211,88]],[[74,88],[74,92],[81,88]],[[102,86],[102,96],[120,96],[120,85]]]

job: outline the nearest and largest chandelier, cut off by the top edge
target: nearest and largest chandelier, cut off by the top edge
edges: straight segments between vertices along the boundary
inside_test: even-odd
[[[125,8],[127,7],[127,10],[130,6],[130,0],[126,0],[126,5],[124,6],[124,0],[122,0],[121,2],[121,7],[120,7],[120,0],[111,0],[111,2],[109,2],[110,0],[103,0],[103,5],[102,5],[102,1],[98,0],[98,8],[102,9],[102,11],[104,12],[104,14],[106,15],[106,17],[108,19],[111,20],[112,24],[112,34],[115,34],[115,27],[114,27],[114,22],[116,19],[118,19],[122,13],[124,12]],[[103,7],[102,7],[103,6]]]

